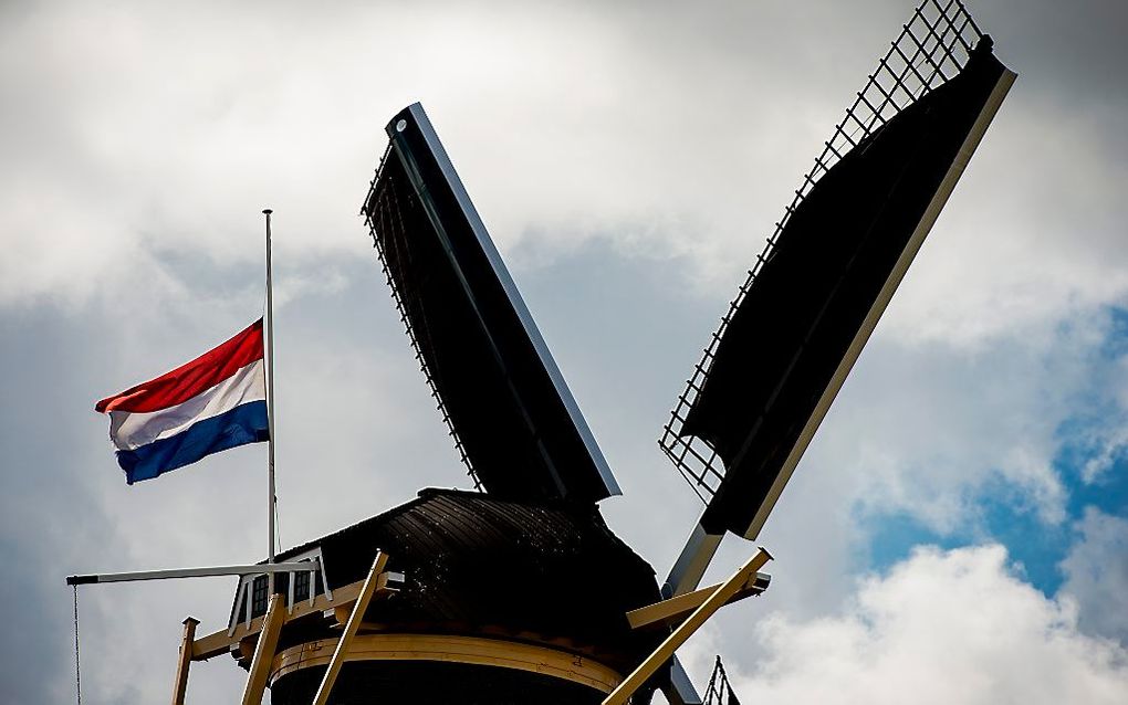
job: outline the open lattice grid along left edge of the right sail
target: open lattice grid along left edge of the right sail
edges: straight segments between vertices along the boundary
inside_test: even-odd
[[[981,37],[978,25],[960,0],[925,0],[914,10],[911,19],[902,25],[900,35],[892,42],[889,52],[878,61],[878,68],[870,74],[865,87],[857,92],[845,117],[835,126],[830,139],[823,142],[814,166],[803,177],[795,197],[776,223],[772,237],[767,238],[764,249],[757,255],[755,265],[748,271],[744,283],[729,305],[729,310],[721,319],[700,362],[694,368],[686,390],[678,398],[659,440],[659,446],[702,502],[708,503],[716,493],[724,477],[723,464],[708,443],[695,437],[684,438],[681,429],[708,378],[725,327],[756,281],[757,273],[770,259],[779,233],[814,184],[831,167],[895,115],[959,73]]]

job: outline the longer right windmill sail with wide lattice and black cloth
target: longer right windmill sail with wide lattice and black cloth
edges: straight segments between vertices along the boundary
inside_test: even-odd
[[[661,446],[755,538],[1015,74],[958,0],[927,0],[804,178]]]

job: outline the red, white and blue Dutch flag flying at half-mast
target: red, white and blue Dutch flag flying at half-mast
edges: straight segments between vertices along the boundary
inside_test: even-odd
[[[129,484],[268,440],[263,319],[192,362],[107,397],[109,438]]]

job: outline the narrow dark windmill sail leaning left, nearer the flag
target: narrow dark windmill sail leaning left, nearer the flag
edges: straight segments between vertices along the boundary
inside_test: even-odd
[[[390,138],[363,213],[408,336],[476,483],[591,503],[619,490],[423,107]]]

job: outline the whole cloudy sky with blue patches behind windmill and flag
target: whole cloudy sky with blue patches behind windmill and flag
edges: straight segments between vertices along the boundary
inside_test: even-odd
[[[265,206],[283,545],[467,486],[356,217],[414,100],[664,574],[699,505],[660,426],[911,6],[0,3],[0,700],[73,702],[64,575],[263,556],[265,448],[127,487],[91,407],[262,314]],[[760,537],[772,589],[682,650],[747,702],[1128,694],[1128,12],[971,9],[1019,80]],[[232,589],[81,590],[85,702],[167,698]]]

